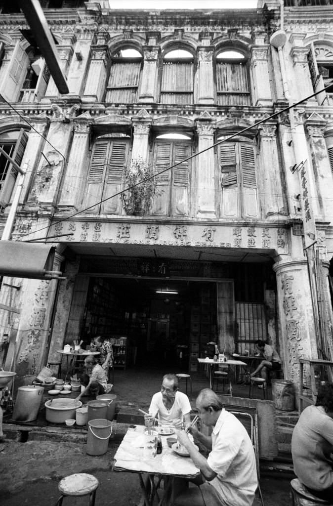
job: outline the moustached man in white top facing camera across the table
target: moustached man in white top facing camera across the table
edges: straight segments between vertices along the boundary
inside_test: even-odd
[[[159,425],[174,425],[182,427],[189,424],[191,404],[187,395],[178,390],[178,377],[176,374],[164,374],[161,391],[154,394],[150,406],[149,415],[145,415],[145,421],[153,422],[158,415]]]

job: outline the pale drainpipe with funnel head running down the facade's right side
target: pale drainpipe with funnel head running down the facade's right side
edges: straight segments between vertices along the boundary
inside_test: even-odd
[[[280,0],[280,29],[276,30],[270,37],[270,45],[273,46],[273,48],[277,49],[278,55],[279,55],[279,63],[280,63],[280,71],[281,71],[281,77],[282,77],[282,85],[283,85],[283,92],[284,96],[288,101],[288,106],[293,105],[292,98],[290,96],[289,92],[289,86],[288,86],[288,80],[287,80],[287,73],[285,68],[285,60],[284,60],[284,54],[283,54],[283,47],[286,43],[286,33],[283,29],[283,0]],[[302,149],[299,146],[298,140],[297,140],[297,133],[296,133],[296,126],[295,126],[295,118],[294,118],[294,110],[289,109],[288,112],[289,115],[289,121],[290,121],[290,133],[292,135],[292,145],[294,149],[294,156],[297,163],[300,163],[303,160],[304,153]],[[300,180],[300,188],[301,188],[301,180]],[[313,212],[312,212],[313,215]],[[304,222],[304,221],[303,221]],[[313,316],[314,316],[314,327],[316,332],[316,343],[317,343],[317,353],[318,355],[325,355],[324,352],[325,347],[323,346],[323,337],[324,337],[324,329],[322,328],[322,325],[320,324],[320,312],[318,308],[318,287],[317,282],[314,276],[315,271],[315,265],[314,265],[314,244],[316,243],[316,237],[311,237],[311,244],[307,244],[309,241],[308,237],[305,236],[306,241],[306,256],[307,256],[307,264],[308,264],[308,274],[309,274],[309,283],[310,283],[310,289],[311,289],[311,299],[312,299],[312,308],[313,308]],[[324,352],[324,353],[323,353]],[[328,357],[319,357],[319,358],[326,358]]]

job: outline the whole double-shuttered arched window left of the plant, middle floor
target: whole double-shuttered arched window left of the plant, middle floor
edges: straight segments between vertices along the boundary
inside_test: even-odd
[[[126,134],[108,134],[94,144],[87,182],[87,213],[120,214],[119,196],[105,200],[121,189],[124,167],[129,162],[130,138]],[[101,202],[101,203],[99,203]]]

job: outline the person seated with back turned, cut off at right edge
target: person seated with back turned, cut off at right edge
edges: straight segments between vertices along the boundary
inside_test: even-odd
[[[294,472],[309,491],[333,498],[333,383],[318,389],[315,406],[306,407],[292,436]]]

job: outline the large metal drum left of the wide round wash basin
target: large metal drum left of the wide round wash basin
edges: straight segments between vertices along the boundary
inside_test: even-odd
[[[37,385],[19,387],[13,411],[13,420],[32,421],[38,416],[44,388]]]

